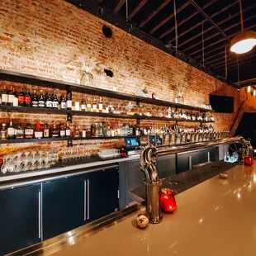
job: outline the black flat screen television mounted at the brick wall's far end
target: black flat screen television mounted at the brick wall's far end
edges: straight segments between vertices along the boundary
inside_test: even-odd
[[[234,112],[234,97],[210,95],[210,104],[212,109],[218,113]]]

